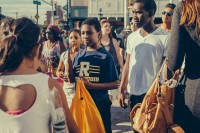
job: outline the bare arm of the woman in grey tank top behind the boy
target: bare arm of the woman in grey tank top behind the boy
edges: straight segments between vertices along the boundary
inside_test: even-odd
[[[117,60],[119,62],[119,66],[120,66],[121,69],[123,69],[123,67],[124,67],[123,56],[122,56],[122,54],[120,55],[120,48],[119,48],[119,44],[118,44],[116,39],[113,39],[113,44],[114,44],[114,47],[115,47],[115,51],[116,51],[116,55],[117,55]]]

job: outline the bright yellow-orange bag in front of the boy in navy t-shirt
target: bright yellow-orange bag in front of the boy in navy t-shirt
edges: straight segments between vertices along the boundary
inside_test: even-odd
[[[81,133],[105,133],[101,115],[81,80],[77,80],[70,111]]]

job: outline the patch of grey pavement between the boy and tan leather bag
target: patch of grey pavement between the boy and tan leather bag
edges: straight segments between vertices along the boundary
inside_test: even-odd
[[[114,100],[111,107],[111,122],[113,133],[133,133],[129,119],[129,109],[123,109]]]

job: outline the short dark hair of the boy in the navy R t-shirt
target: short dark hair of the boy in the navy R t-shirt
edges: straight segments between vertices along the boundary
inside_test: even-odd
[[[101,25],[100,25],[100,23],[99,23],[99,21],[98,21],[97,19],[88,18],[88,19],[86,19],[86,20],[84,20],[84,21],[82,22],[81,27],[82,27],[84,24],[93,26],[97,32],[100,32],[100,31],[101,31]]]

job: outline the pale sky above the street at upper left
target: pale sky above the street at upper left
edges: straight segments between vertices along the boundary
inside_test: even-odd
[[[46,20],[46,11],[51,11],[51,6],[43,2],[42,0],[38,0],[41,2],[39,5],[38,14],[39,24],[43,24],[44,20]],[[45,0],[47,2],[51,2],[51,0]],[[62,7],[66,4],[67,0],[57,0],[57,5],[61,5]],[[13,18],[16,17],[29,17],[34,20],[36,15],[36,5],[33,4],[33,0],[0,0],[1,12],[5,16],[10,16]]]

